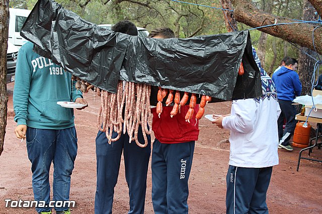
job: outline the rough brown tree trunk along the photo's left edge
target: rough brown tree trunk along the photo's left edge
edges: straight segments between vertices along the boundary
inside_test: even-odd
[[[9,0],[0,0],[0,156],[4,150],[7,126],[7,49],[9,27]]]

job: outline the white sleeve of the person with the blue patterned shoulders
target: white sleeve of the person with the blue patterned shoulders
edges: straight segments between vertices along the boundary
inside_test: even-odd
[[[249,133],[255,128],[256,111],[255,99],[238,99],[231,105],[231,115],[223,118],[222,126],[230,131]]]

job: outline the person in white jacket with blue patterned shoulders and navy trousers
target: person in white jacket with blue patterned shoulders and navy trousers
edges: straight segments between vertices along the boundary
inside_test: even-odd
[[[233,100],[231,114],[213,115],[219,128],[230,130],[226,213],[268,213],[266,192],[278,164],[277,119],[281,113],[272,79],[261,70],[263,95]]]

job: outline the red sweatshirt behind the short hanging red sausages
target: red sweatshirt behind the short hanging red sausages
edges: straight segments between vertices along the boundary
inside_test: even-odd
[[[189,105],[181,106],[173,118],[170,113],[173,106],[163,106],[160,118],[156,114],[156,108],[151,109],[153,114],[152,130],[155,138],[161,143],[184,143],[189,141],[197,141],[199,136],[199,121],[196,124],[196,114],[199,110],[199,104],[195,106],[190,123],[186,122],[185,117],[189,110]]]

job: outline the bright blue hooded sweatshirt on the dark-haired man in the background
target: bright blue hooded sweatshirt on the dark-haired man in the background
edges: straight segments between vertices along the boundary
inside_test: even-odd
[[[273,74],[272,80],[276,86],[278,99],[292,101],[295,95],[301,95],[302,84],[295,71],[283,66]]]

